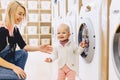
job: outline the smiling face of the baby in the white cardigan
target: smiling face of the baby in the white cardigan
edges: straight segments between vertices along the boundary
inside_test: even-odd
[[[58,40],[64,41],[66,39],[69,39],[69,36],[70,36],[70,32],[69,32],[68,27],[62,26],[62,27],[58,28],[58,30],[57,30],[57,38],[58,38]]]

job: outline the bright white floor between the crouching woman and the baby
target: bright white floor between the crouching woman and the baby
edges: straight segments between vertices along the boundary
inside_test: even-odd
[[[26,80],[57,80],[57,64],[44,62],[46,57],[49,57],[49,54],[29,52],[25,66]]]

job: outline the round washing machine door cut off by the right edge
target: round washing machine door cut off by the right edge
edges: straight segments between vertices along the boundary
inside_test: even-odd
[[[113,40],[113,62],[117,73],[120,78],[120,26],[118,27]]]

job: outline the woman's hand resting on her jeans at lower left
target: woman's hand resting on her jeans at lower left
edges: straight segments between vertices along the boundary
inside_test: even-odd
[[[26,79],[26,73],[20,67],[14,66],[14,68],[12,70],[17,74],[17,76],[19,77],[19,79],[21,79],[21,78],[22,79]]]

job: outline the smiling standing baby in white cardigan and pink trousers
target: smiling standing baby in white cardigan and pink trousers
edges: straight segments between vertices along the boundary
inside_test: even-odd
[[[58,80],[75,80],[76,77],[76,56],[84,51],[85,43],[81,42],[77,47],[69,40],[70,29],[65,23],[57,28],[57,38],[59,43],[53,46],[54,58],[46,58],[45,62],[52,62],[58,59]]]

